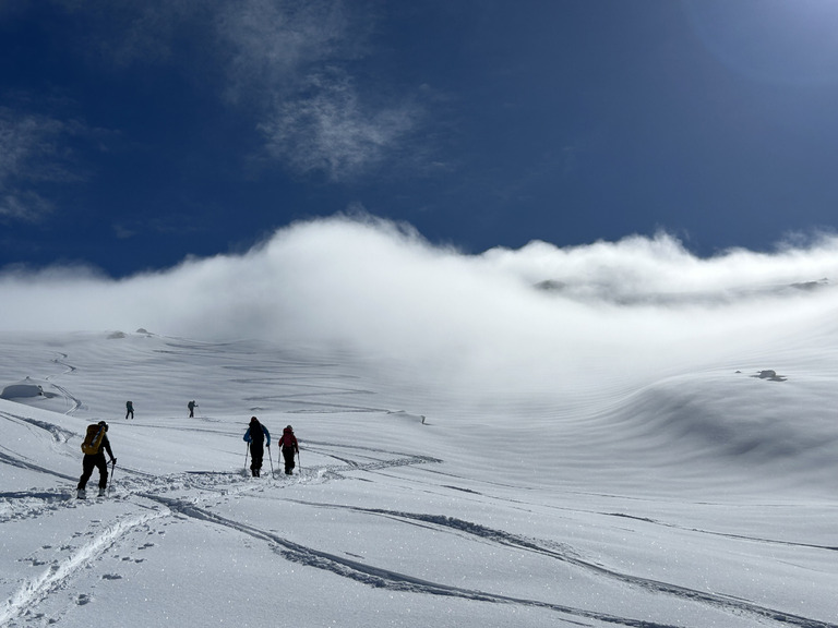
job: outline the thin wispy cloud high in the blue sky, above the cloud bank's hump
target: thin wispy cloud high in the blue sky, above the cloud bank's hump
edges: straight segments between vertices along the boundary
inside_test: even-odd
[[[352,180],[397,155],[421,120],[409,97],[384,102],[346,69],[366,52],[373,19],[362,7],[250,0],[218,21],[229,96],[261,104],[266,154],[295,172]]]

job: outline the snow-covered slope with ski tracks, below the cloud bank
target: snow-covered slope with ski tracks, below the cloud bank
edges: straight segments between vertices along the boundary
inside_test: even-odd
[[[0,626],[837,626],[822,331],[467,395],[348,351],[2,334],[41,392],[0,399]],[[295,475],[244,472],[251,415],[294,425]]]

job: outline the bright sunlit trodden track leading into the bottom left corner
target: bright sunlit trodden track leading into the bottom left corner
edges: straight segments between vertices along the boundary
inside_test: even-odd
[[[61,588],[79,569],[107,552],[120,536],[137,526],[163,517],[159,512],[141,515],[133,519],[119,521],[110,526],[96,539],[80,547],[72,556],[59,565],[50,566],[39,578],[23,583],[19,591],[3,603],[0,609],[0,626],[24,614],[33,606],[46,600],[53,591]]]

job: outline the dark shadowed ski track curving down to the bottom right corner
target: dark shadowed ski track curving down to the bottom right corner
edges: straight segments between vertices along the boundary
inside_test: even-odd
[[[678,584],[662,582],[660,580],[651,580],[648,578],[630,576],[627,573],[613,571],[611,569],[607,569],[599,565],[588,563],[587,560],[583,560],[580,558],[571,556],[567,551],[559,552],[556,550],[550,548],[546,544],[542,544],[536,539],[526,539],[524,536],[511,534],[510,532],[505,532],[503,530],[487,528],[486,526],[481,526],[480,523],[474,523],[471,521],[465,521],[463,519],[457,519],[454,517],[447,517],[442,515],[404,512],[404,511],[397,511],[397,510],[385,510],[381,508],[362,508],[358,506],[339,506],[335,504],[320,504],[320,503],[312,503],[312,502],[303,502],[299,499],[294,499],[292,502],[303,504],[307,506],[315,506],[315,507],[321,507],[326,509],[343,509],[343,510],[351,510],[355,512],[368,512],[371,515],[381,515],[381,516],[393,518],[393,519],[403,519],[403,520],[409,520],[409,521],[420,521],[422,523],[430,523],[438,528],[451,529],[451,530],[454,530],[455,532],[470,534],[483,541],[491,541],[491,542],[498,543],[499,545],[504,545],[507,547],[514,547],[517,550],[524,550],[527,552],[541,554],[543,556],[549,556],[562,563],[567,563],[575,567],[579,567],[588,571],[594,571],[598,576],[603,576],[610,579],[614,579],[620,582],[631,584],[633,587],[639,587],[647,591],[651,591],[653,593],[665,593],[669,595],[674,595],[680,599],[686,599],[693,602],[709,604],[717,608],[722,608],[722,609],[731,611],[734,613],[747,613],[751,615],[756,615],[758,617],[764,617],[775,621],[780,621],[782,624],[800,626],[801,628],[838,628],[838,624],[829,624],[826,621],[819,621],[817,619],[811,619],[809,617],[792,615],[783,611],[776,611],[774,608],[759,606],[739,597],[731,597],[728,595],[721,595],[717,593],[708,593],[705,591],[698,591],[696,589],[689,589],[686,587],[680,587]],[[562,547],[566,547],[566,546],[562,545]]]

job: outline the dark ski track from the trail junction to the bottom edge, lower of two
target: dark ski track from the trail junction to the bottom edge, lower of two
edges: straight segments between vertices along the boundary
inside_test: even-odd
[[[438,582],[431,582],[430,580],[423,580],[390,569],[383,569],[364,565],[350,558],[337,556],[328,552],[321,552],[311,547],[306,547],[287,539],[283,539],[272,532],[248,526],[220,517],[203,508],[199,508],[194,504],[188,504],[180,499],[171,499],[168,497],[160,497],[158,495],[145,494],[141,495],[153,502],[157,502],[166,506],[172,512],[178,512],[191,519],[203,521],[206,523],[214,523],[222,526],[230,530],[248,534],[254,539],[266,541],[276,546],[278,554],[280,554],[287,560],[298,563],[303,566],[314,567],[316,569],[323,569],[330,571],[336,576],[355,580],[368,587],[387,589],[391,591],[402,591],[407,593],[441,595],[441,596],[454,596],[472,602],[489,602],[495,604],[517,604],[523,606],[530,606],[537,608],[546,608],[549,611],[555,611],[565,615],[574,617],[584,617],[587,619],[596,619],[607,624],[618,624],[620,626],[628,626],[631,628],[681,628],[671,624],[658,624],[656,621],[645,621],[643,619],[631,619],[626,617],[618,617],[614,615],[608,615],[603,613],[596,613],[594,611],[587,611],[584,608],[575,608],[573,606],[563,606],[561,604],[553,604],[550,602],[542,602],[539,600],[527,600],[525,597],[513,597],[508,595],[501,595],[496,593],[487,593],[483,591],[477,591],[471,589],[463,589],[459,587],[451,587],[447,584],[441,584]],[[363,509],[359,509],[363,510]],[[838,628],[828,624],[810,623],[804,624],[805,628]]]

